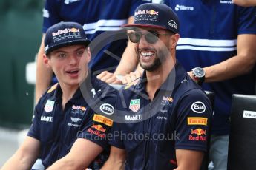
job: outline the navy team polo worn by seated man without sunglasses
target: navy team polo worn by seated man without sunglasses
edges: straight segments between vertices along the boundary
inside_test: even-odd
[[[27,135],[40,141],[45,169],[68,154],[77,138],[85,138],[102,146],[104,152],[89,167],[99,169],[102,166],[108,158],[106,135],[113,123],[115,98],[116,90],[92,74],[65,104],[64,110],[59,84],[42,95]]]

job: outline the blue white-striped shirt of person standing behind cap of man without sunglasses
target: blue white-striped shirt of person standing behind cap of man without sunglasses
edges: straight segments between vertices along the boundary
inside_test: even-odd
[[[127,24],[134,10],[146,2],[150,0],[46,0],[43,33],[60,21],[78,22],[91,41],[108,32],[111,36],[91,43],[93,58],[89,66],[96,74],[102,69],[114,72],[127,45],[126,31],[119,32],[120,26]]]

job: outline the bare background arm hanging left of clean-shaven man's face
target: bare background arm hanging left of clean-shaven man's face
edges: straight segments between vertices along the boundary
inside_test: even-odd
[[[50,81],[53,71],[47,67],[43,62],[43,54],[45,53],[45,33],[42,35],[42,42],[36,59],[36,103],[39,101],[41,95],[50,86]]]

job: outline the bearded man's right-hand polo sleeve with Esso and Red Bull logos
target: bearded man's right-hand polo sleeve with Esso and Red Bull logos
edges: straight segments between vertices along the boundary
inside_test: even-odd
[[[177,106],[175,149],[206,152],[211,120],[211,103],[200,89],[186,92]]]

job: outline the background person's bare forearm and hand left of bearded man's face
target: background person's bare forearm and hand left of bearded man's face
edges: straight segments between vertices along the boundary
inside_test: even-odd
[[[128,18],[128,24],[134,22],[134,16]],[[104,71],[97,76],[102,81],[105,81],[108,84],[122,84],[122,81],[116,77],[116,75],[126,75],[130,72],[133,72],[137,67],[138,59],[134,51],[134,44],[131,41],[128,41],[127,47],[122,54],[121,61],[119,62],[114,73]]]

